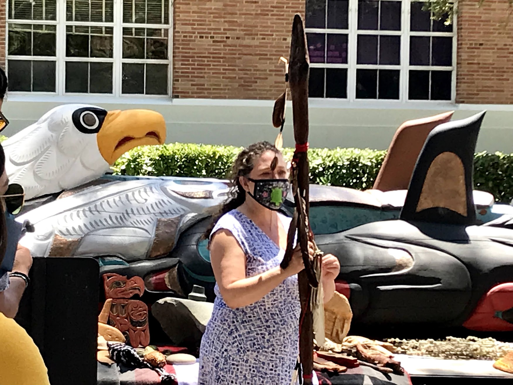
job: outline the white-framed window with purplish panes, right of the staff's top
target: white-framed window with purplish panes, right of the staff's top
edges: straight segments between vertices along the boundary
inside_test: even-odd
[[[309,96],[446,101],[456,94],[456,26],[417,0],[306,0]]]

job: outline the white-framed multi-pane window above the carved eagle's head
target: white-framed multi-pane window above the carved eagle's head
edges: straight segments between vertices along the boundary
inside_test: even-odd
[[[170,2],[9,0],[9,91],[170,95]]]

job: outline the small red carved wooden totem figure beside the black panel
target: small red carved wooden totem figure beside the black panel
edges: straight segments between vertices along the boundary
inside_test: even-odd
[[[150,343],[148,306],[142,301],[129,299],[142,296],[144,281],[141,277],[127,278],[119,274],[103,275],[105,297],[112,298],[109,325],[123,333],[132,347],[146,347]]]

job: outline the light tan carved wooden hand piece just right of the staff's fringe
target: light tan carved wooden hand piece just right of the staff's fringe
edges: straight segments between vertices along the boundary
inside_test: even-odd
[[[351,327],[352,311],[346,296],[335,292],[333,297],[324,304],[324,331],[326,338],[335,343],[342,340],[349,333]]]

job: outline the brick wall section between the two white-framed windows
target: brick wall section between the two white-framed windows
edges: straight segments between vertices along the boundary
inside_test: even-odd
[[[173,97],[277,98],[305,0],[175,0]]]

